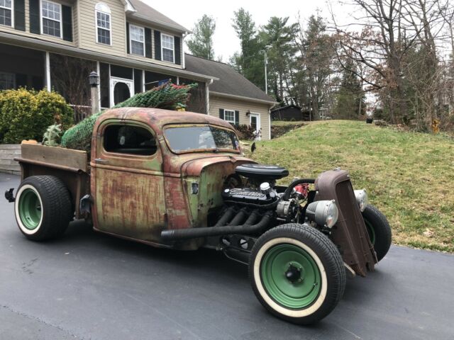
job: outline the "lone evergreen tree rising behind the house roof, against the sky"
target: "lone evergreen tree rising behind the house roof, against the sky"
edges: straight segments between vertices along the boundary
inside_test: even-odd
[[[214,30],[216,30],[216,21],[214,21],[214,18],[211,16],[204,14],[204,16],[196,22],[192,38],[187,40],[189,52],[196,57],[214,60]]]

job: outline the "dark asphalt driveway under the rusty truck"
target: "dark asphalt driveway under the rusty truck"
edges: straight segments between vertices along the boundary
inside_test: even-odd
[[[268,314],[245,266],[214,251],[153,249],[73,222],[27,241],[0,174],[0,339],[454,339],[454,256],[393,246],[348,280],[314,327]]]

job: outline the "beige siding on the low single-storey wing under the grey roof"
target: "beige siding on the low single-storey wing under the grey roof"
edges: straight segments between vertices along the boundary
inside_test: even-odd
[[[240,124],[250,124],[250,118],[246,115],[250,113],[260,114],[260,128],[262,140],[270,139],[270,104],[255,103],[253,101],[243,101],[239,99],[226,98],[210,94],[210,115],[219,117],[219,109],[240,111]]]

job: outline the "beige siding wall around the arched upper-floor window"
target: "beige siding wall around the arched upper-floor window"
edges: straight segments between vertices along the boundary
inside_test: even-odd
[[[103,2],[111,10],[111,45],[96,42],[94,6]],[[79,1],[79,47],[108,55],[126,57],[126,16],[120,0]]]

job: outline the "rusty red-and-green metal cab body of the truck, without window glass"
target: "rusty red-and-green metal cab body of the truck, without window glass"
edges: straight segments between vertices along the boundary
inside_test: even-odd
[[[111,123],[148,128],[157,140],[157,152],[148,157],[106,152],[102,141]],[[101,115],[90,162],[96,229],[157,244],[163,229],[206,227],[209,210],[222,205],[223,181],[239,164],[253,162],[241,157],[240,150],[176,154],[163,135],[165,126],[173,124],[210,124],[233,131],[229,123],[197,113],[118,108]],[[191,193],[192,183],[198,184],[198,195]],[[196,249],[202,241],[194,239],[181,247]]]

